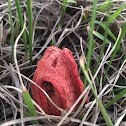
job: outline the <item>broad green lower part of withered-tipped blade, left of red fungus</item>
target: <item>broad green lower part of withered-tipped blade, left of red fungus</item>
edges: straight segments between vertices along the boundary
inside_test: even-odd
[[[28,107],[28,110],[30,112],[30,116],[36,116],[37,113],[36,113],[35,106],[31,100],[31,96],[27,90],[23,91],[23,98],[24,98],[24,101],[25,101],[25,103]],[[38,123],[38,121],[35,120],[35,123]]]

